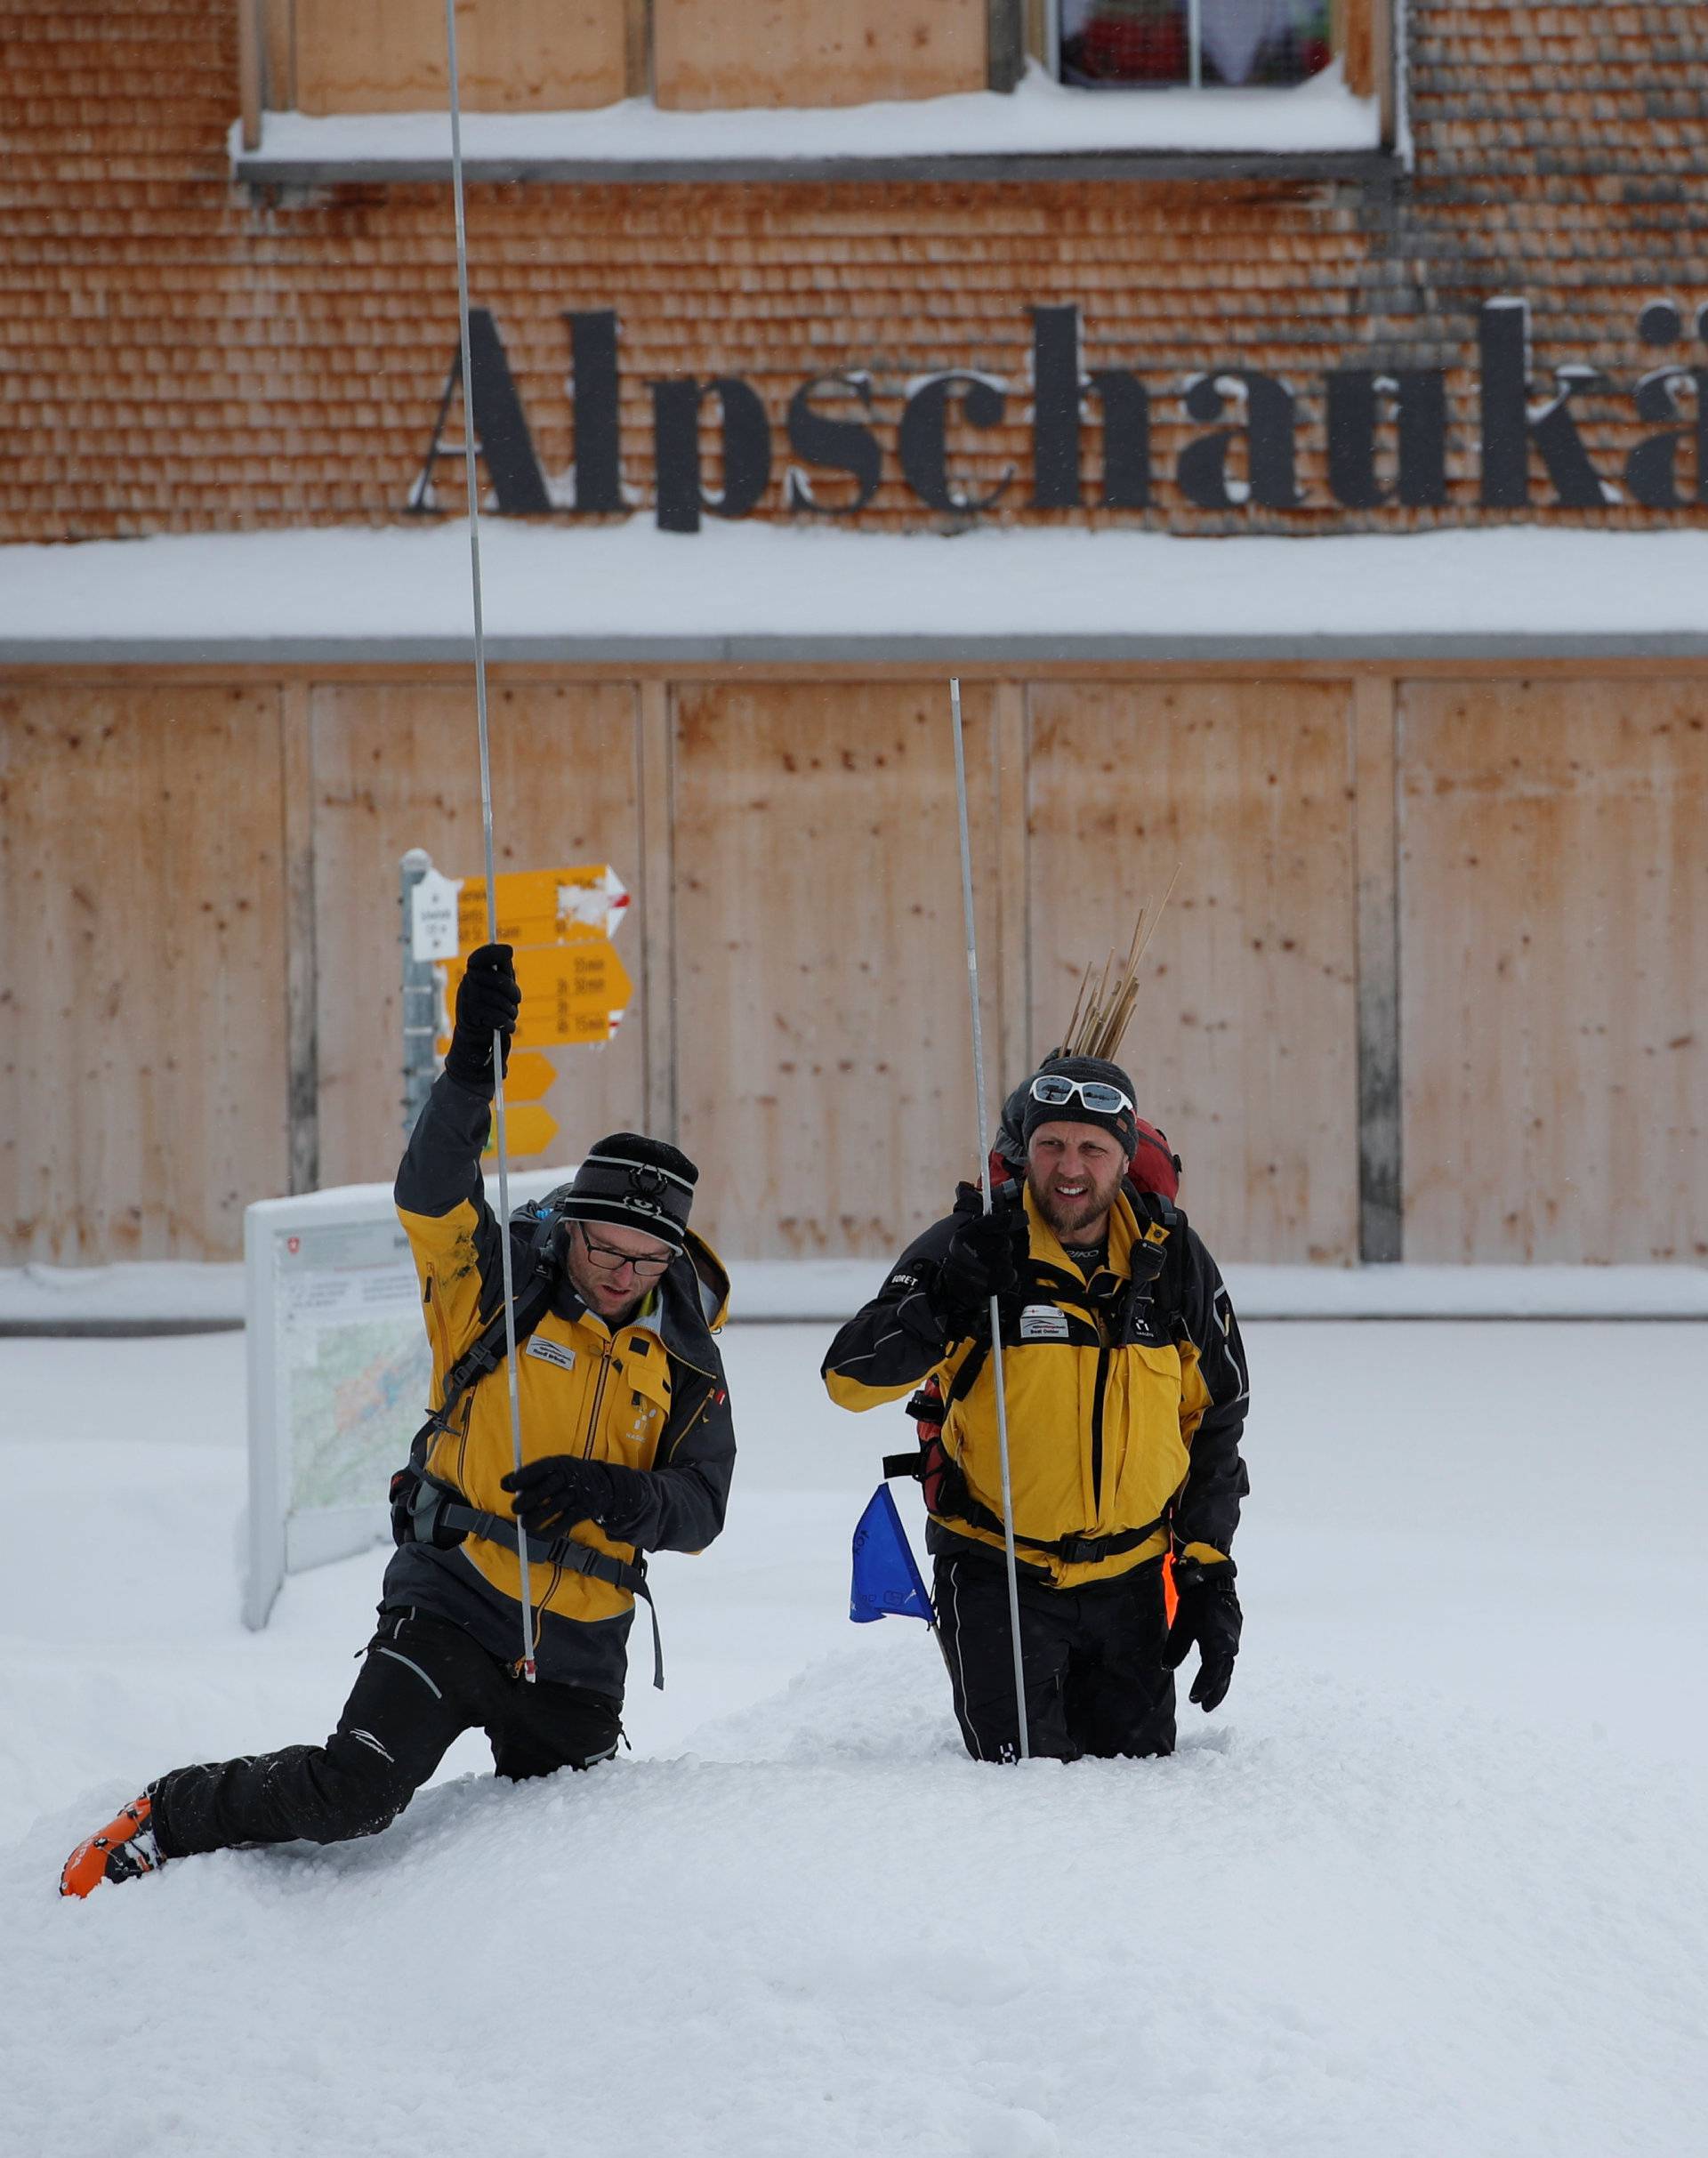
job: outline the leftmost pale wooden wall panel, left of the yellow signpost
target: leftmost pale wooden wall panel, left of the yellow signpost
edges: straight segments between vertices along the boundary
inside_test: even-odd
[[[0,1249],[231,1258],[289,1176],[279,686],[0,686]]]

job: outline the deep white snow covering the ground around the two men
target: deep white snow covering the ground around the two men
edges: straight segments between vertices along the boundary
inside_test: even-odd
[[[6,1342],[0,2149],[1702,2147],[1699,1325],[1252,1327],[1226,1707],[1024,1772],[842,1616],[903,1426],[823,1338],[726,1336],[730,1530],[656,1567],[633,1757],[512,1789],[464,1739],[371,1843],[86,1906],[149,1774],[328,1729],[382,1554],[246,1636],[242,1338]]]

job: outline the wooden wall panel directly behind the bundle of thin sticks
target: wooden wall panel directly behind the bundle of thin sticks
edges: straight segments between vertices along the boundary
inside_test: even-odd
[[[1244,1258],[1356,1258],[1352,684],[1034,684],[1030,706],[1032,1049],[1179,868],[1125,1062],[1181,1200]]]

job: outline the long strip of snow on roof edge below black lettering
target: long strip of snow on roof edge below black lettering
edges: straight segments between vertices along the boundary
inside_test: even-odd
[[[661,533],[648,518],[577,527],[482,520],[486,634],[574,656],[743,641],[913,641],[918,656],[987,639],[1168,645],[1218,656],[1252,641],[1708,637],[1708,531],[1535,524],[1427,533],[1185,540],[1039,527],[846,533],[799,522]],[[28,626],[28,632],[22,632]],[[473,630],[464,522],[196,533],[0,546],[0,656],[145,660],[242,647],[395,645],[458,656]],[[259,650],[248,654],[261,658]],[[272,656],[272,654],[268,654]],[[790,650],[777,650],[777,658]],[[1270,656],[1280,656],[1272,652]]]

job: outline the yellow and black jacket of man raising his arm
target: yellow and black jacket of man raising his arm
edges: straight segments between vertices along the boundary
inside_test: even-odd
[[[490,1103],[440,1075],[397,1172],[397,1217],[432,1344],[434,1409],[445,1407],[447,1372],[503,1306],[501,1230],[479,1172],[488,1124]],[[520,1249],[523,1232],[512,1237]],[[551,1308],[518,1344],[523,1459],[572,1452],[648,1472],[624,1478],[624,1513],[605,1528],[581,1521],[577,1543],[633,1562],[639,1552],[700,1552],[723,1528],[736,1446],[713,1329],[726,1308],[723,1267],[693,1234],[628,1325],[611,1329],[568,1280],[555,1284]],[[510,1521],[503,1357],[451,1405],[423,1467],[471,1508]],[[529,1565],[529,1593],[540,1677],[622,1698],[635,1614],[628,1588]],[[387,1567],[384,1595],[456,1621],[505,1662],[520,1653],[520,1567],[510,1536],[471,1534],[449,1549],[406,1543]]]

